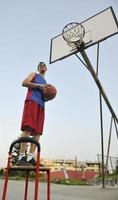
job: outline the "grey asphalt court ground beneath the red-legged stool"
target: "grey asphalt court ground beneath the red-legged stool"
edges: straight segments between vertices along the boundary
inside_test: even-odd
[[[4,180],[0,180],[0,199],[2,199]],[[10,180],[6,200],[24,199],[24,181]],[[46,200],[47,184],[39,183],[39,199]],[[34,182],[29,182],[28,200],[33,200]],[[51,200],[118,200],[118,185],[101,186],[70,186],[51,184]]]

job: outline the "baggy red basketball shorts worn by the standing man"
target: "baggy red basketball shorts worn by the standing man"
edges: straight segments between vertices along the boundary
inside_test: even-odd
[[[32,100],[26,100],[23,110],[21,130],[31,135],[42,135],[44,125],[44,108]]]

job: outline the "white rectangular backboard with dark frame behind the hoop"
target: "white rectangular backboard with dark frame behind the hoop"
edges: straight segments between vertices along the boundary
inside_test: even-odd
[[[84,49],[118,33],[118,21],[112,7],[90,17],[81,24],[85,28]],[[68,44],[60,34],[51,39],[50,64],[77,52],[76,46]]]

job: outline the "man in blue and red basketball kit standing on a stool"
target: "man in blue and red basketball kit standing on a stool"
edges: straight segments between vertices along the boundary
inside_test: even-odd
[[[44,62],[38,65],[38,73],[31,73],[22,82],[23,87],[28,88],[26,100],[24,104],[21,130],[21,137],[33,136],[39,141],[40,135],[43,133],[44,116],[45,116],[45,100],[43,90],[49,86],[44,79],[47,66]],[[22,143],[20,147],[20,155],[18,165],[36,165],[34,154],[36,145],[31,144],[28,158],[25,156],[26,143]]]

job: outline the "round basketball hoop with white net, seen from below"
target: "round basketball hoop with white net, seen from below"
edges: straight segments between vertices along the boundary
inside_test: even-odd
[[[67,44],[74,44],[77,48],[80,48],[83,43],[84,35],[84,27],[77,22],[67,24],[62,31],[63,39],[67,42]]]

